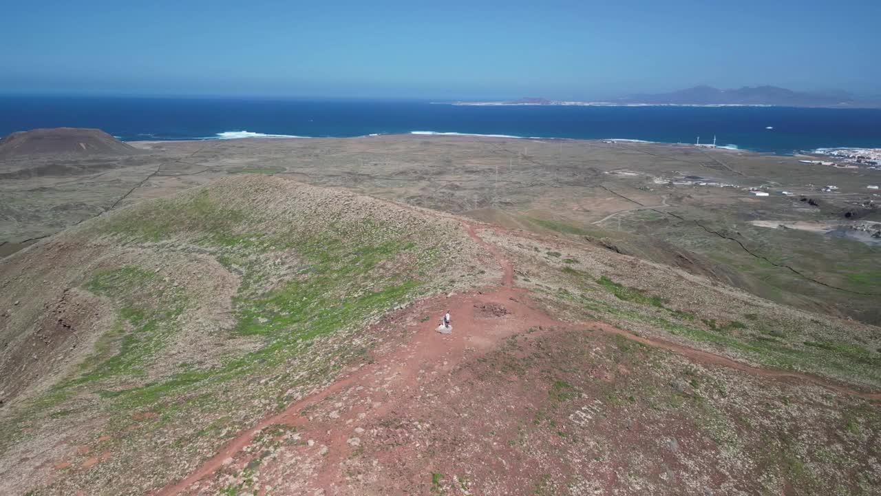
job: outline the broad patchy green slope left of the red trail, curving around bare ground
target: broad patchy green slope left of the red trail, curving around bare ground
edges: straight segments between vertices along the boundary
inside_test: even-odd
[[[345,364],[366,359],[372,339],[352,342],[383,313],[418,297],[448,250],[448,241],[408,224],[357,215],[279,220],[220,198],[209,189],[152,200],[86,229],[122,244],[167,240],[177,251],[212,257],[237,274],[235,323],[211,336],[231,346],[221,355],[206,351],[207,364],[196,350],[185,363],[157,367],[174,359],[168,346],[186,322],[181,316],[199,301],[151,269],[100,269],[83,288],[112,302],[115,325],[76,372],[3,423],[9,437],[0,445],[17,442],[25,428],[47,425],[52,417],[89,410],[107,416],[107,431],[119,432],[118,442],[147,442],[174,425],[181,453],[213,449],[221,432],[243,427],[243,416],[283,409]],[[345,338],[318,339],[336,334]],[[151,415],[135,423],[140,428],[130,430],[132,416],[147,411]]]

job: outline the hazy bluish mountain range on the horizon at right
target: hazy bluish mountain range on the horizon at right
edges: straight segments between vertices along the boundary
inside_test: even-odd
[[[786,107],[878,107],[878,101],[860,100],[840,90],[817,93],[798,92],[777,86],[744,86],[719,89],[712,86],[692,88],[663,94],[634,94],[619,100],[622,103],[668,105],[774,105]]]

